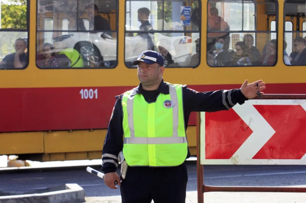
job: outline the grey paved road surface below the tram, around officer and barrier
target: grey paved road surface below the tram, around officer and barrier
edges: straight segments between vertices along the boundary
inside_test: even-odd
[[[100,169],[100,165],[92,166]],[[187,162],[186,203],[197,202],[196,163]],[[86,171],[86,166],[32,170],[0,170],[0,190],[26,191],[65,183],[84,188],[88,203],[119,203],[120,191],[107,188],[101,178]],[[306,187],[306,167],[278,165],[205,165],[204,184],[218,186]],[[302,193],[205,193],[205,203],[306,203]]]

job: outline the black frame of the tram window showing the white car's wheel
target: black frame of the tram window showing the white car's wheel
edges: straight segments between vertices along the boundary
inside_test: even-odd
[[[40,0],[37,0],[36,2],[36,21],[38,20],[38,9],[39,9],[39,1]],[[77,16],[79,16],[79,1],[80,0],[77,0]],[[107,31],[107,33],[116,33],[116,63],[113,67],[107,67],[107,68],[103,68],[103,67],[68,67],[68,68],[62,68],[62,67],[55,67],[55,68],[41,68],[39,67],[39,65],[37,64],[37,55],[38,55],[38,52],[37,52],[37,47],[39,46],[39,44],[37,43],[37,40],[38,40],[38,33],[44,33],[44,32],[70,32],[70,33],[97,33],[97,30],[87,30],[87,31],[81,31],[78,29],[79,25],[77,23],[77,29],[76,30],[38,30],[38,24],[36,24],[36,36],[35,36],[35,44],[36,44],[36,49],[35,49],[35,64],[36,64],[36,67],[38,69],[42,69],[42,70],[58,70],[58,69],[61,69],[61,70],[68,70],[68,69],[76,69],[76,70],[103,70],[103,69],[115,69],[117,66],[118,66],[118,48],[119,48],[119,43],[118,43],[118,28],[119,28],[119,0],[115,0],[116,1],[116,9],[115,9],[115,12],[116,12],[116,27],[115,27],[115,30],[110,30],[110,31]],[[103,12],[100,12],[100,13],[103,13]],[[67,18],[63,18],[63,19],[67,19]],[[61,19],[61,20],[63,20]],[[82,19],[82,18],[78,18],[78,19]],[[77,20],[78,20],[77,19]],[[83,19],[82,19],[83,20]],[[68,22],[69,22],[69,19],[68,19]],[[110,22],[109,22],[110,23]],[[98,33],[105,33],[105,31],[100,31],[98,30]],[[53,42],[54,43],[54,42]],[[80,53],[81,54],[81,53]]]

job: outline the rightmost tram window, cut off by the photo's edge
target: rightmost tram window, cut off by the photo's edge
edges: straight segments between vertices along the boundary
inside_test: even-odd
[[[286,0],[284,6],[284,15],[290,16],[291,19],[296,19],[296,22],[301,22],[305,18],[306,4],[297,0]],[[295,21],[293,21],[295,23]],[[305,22],[296,25],[295,31],[292,22],[285,22],[284,38],[287,42],[287,49],[284,52],[284,63],[293,66],[306,66],[306,48],[305,48]],[[290,45],[291,50],[288,46]],[[288,51],[287,51],[288,50]]]

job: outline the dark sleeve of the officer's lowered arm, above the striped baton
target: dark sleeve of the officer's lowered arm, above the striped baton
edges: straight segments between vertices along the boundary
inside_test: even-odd
[[[115,172],[118,167],[117,156],[123,149],[122,105],[117,99],[108,124],[102,150],[102,171]]]

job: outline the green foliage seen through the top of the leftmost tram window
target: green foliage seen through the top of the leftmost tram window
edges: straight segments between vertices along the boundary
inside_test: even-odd
[[[1,2],[1,29],[27,29],[27,0]]]

